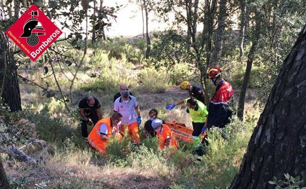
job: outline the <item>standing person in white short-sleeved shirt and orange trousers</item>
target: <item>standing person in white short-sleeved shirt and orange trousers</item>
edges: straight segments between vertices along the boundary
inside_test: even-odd
[[[130,96],[127,90],[122,91],[121,97],[114,103],[114,112],[122,114],[121,133],[128,127],[128,134],[132,138],[131,144],[137,144],[140,141],[138,125],[141,124],[140,108],[135,97]]]

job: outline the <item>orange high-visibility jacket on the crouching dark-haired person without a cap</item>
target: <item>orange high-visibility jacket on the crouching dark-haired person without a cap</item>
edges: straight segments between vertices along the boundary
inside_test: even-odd
[[[118,125],[115,127],[111,126],[110,117],[106,117],[97,122],[95,127],[91,130],[87,137],[88,143],[95,149],[99,150],[102,154],[105,154],[105,148],[107,140],[101,140],[100,125],[104,123],[107,126],[107,136],[120,135]]]

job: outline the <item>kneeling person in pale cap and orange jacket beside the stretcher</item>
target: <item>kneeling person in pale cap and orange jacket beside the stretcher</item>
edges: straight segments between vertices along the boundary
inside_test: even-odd
[[[152,121],[152,127],[156,132],[158,138],[159,148],[163,150],[165,147],[170,147],[170,149],[178,149],[178,143],[175,139],[171,129],[162,123],[161,119],[154,119]]]

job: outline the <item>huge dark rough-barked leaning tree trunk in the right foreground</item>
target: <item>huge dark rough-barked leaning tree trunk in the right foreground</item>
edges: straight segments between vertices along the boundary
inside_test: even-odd
[[[306,25],[284,60],[230,189],[274,189],[284,173],[306,181]]]

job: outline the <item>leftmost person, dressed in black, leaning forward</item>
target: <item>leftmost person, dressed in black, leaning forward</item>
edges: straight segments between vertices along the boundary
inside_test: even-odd
[[[87,123],[90,123],[88,119],[90,118],[94,125],[102,119],[100,107],[99,100],[93,96],[83,97],[78,103],[78,111],[81,115],[81,130],[84,139],[87,139],[88,136]]]

